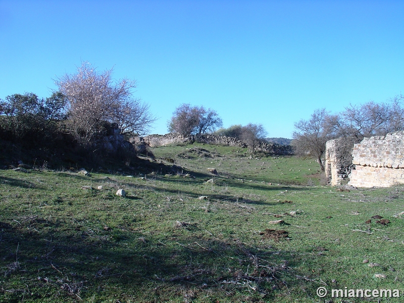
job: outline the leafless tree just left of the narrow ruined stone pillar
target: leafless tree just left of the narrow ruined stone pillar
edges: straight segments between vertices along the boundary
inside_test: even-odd
[[[327,124],[330,118],[325,109],[316,110],[310,120],[300,120],[294,124],[292,145],[300,156],[316,158],[322,171],[325,170],[322,156],[325,151],[325,143],[332,138]]]

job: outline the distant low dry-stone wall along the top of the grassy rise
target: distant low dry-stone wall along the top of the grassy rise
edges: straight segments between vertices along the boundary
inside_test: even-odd
[[[192,135],[185,137],[181,134],[169,133],[166,135],[148,135],[144,138],[133,137],[130,139],[131,143],[144,142],[150,147],[163,146],[171,143],[184,143],[184,142],[200,142],[206,144],[222,144],[228,146],[241,146],[248,147],[246,142],[240,141],[233,137],[215,136],[215,135]],[[292,155],[293,150],[291,146],[271,144],[260,142],[256,148],[257,151],[264,151],[265,153],[273,155]]]

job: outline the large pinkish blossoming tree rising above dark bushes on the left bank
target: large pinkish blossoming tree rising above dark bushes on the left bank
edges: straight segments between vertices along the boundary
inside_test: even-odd
[[[69,131],[84,146],[93,143],[103,131],[104,123],[117,123],[124,132],[145,132],[155,118],[148,106],[132,97],[136,81],[127,78],[112,80],[113,69],[97,72],[88,62],[76,74],[56,80],[67,99]]]

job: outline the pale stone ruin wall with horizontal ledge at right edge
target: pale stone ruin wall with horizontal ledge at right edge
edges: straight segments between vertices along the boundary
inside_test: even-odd
[[[348,185],[388,187],[404,183],[404,132],[364,138],[354,145]]]

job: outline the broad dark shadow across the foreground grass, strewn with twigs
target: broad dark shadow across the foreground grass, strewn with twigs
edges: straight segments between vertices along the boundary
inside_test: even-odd
[[[189,233],[171,235],[128,228],[98,230],[79,223],[60,226],[32,218],[0,232],[3,282],[9,302],[76,301],[97,298],[165,301],[215,294],[271,298],[273,290],[299,287],[289,251],[264,240],[254,247],[240,239]],[[45,220],[46,221],[46,220]],[[268,243],[266,243],[268,242]],[[164,290],[164,291],[162,291]]]

